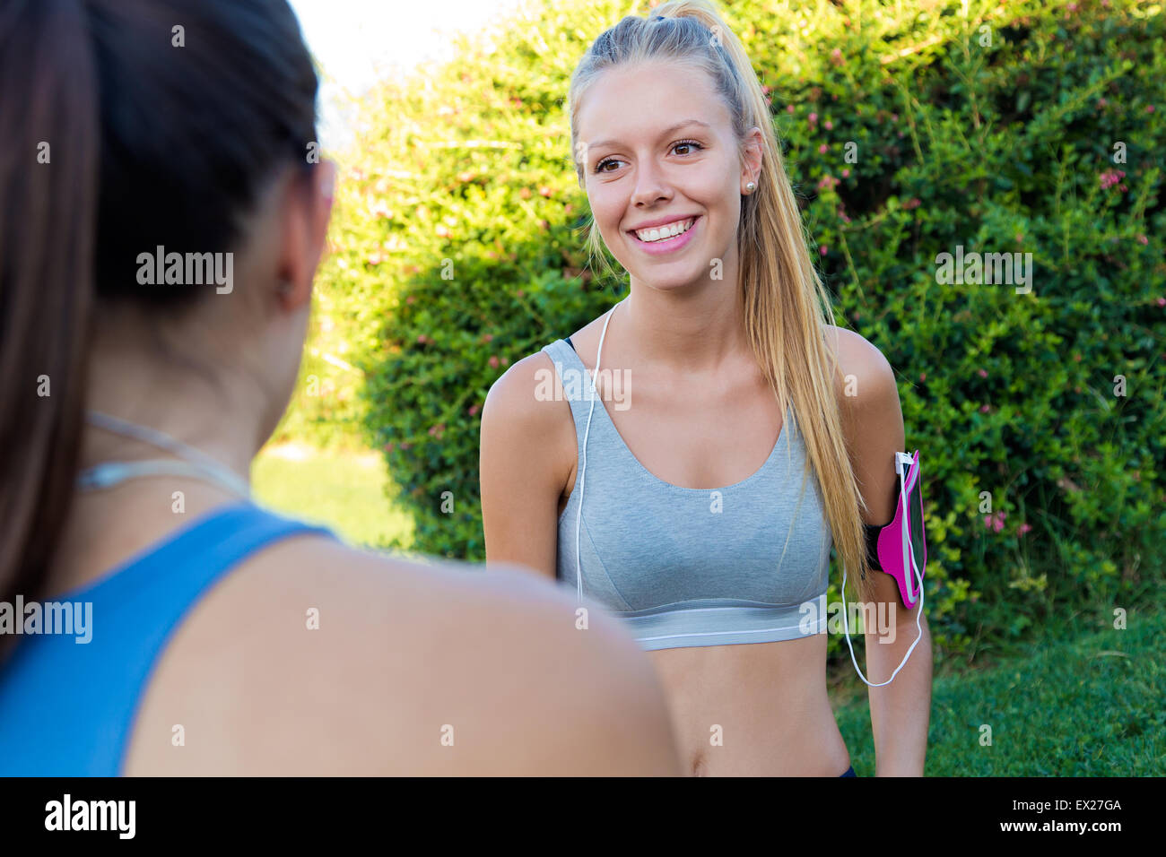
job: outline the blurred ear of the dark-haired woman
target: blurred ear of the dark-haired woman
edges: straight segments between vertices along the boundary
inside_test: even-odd
[[[311,281],[324,253],[332,213],[336,164],[323,160],[283,188],[282,243],[276,300],[288,311],[311,301]]]

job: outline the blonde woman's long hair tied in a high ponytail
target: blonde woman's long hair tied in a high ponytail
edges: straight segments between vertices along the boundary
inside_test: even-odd
[[[659,16],[663,20],[656,20]],[[576,117],[586,90],[607,69],[652,61],[681,63],[709,75],[732,117],[742,153],[746,131],[754,126],[761,129],[761,174],[757,190],[742,198],[737,229],[745,332],[782,413],[792,401],[798,414],[796,429],[807,450],[802,494],[813,466],[835,550],[859,598],[871,602],[873,581],[866,574],[870,566],[862,520],[866,503],[850,464],[835,395],[834,379],[841,371],[826,345],[826,328],[834,321],[830,298],[810,261],[808,236],[761,84],[737,36],[709,0],[672,0],[654,9],[652,19],[624,17],[595,40],[571,75],[571,150],[580,152]],[[576,156],[581,187],[584,169]],[[610,273],[593,219],[586,245],[591,259],[602,259]]]

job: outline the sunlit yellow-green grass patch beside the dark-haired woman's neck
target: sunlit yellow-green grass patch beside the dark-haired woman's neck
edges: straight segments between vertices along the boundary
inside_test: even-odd
[[[259,503],[323,524],[352,545],[378,547],[394,535],[412,542],[413,522],[386,497],[388,473],[375,452],[268,445],[255,457],[251,476]]]

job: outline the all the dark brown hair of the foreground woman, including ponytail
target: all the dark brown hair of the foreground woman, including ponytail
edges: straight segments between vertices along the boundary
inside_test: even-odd
[[[138,255],[243,243],[309,169],[316,91],[286,0],[0,5],[0,600],[37,597],[69,511],[94,305],[194,305]]]

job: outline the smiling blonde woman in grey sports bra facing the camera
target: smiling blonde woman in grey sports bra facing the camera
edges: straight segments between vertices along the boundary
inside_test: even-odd
[[[569,110],[590,247],[598,232],[630,293],[491,389],[487,561],[621,618],[687,773],[847,777],[826,687],[833,542],[861,600],[888,611],[866,628],[874,773],[921,775],[930,639],[921,625],[904,662],[920,607],[869,570],[864,539],[894,512],[894,374],[829,324],[740,42],[707,2],[625,17],[580,62]]]

